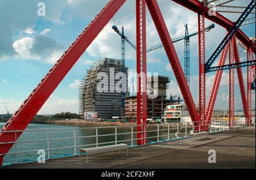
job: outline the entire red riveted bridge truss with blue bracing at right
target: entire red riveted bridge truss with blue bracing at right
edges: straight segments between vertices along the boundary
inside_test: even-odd
[[[31,95],[23,102],[20,108],[7,121],[1,131],[10,131],[1,133],[0,131],[0,164],[3,162],[4,155],[9,152],[16,139],[22,132],[12,132],[24,130],[32,121],[36,113],[42,108],[44,102],[55,90],[57,85],[63,80],[65,75],[71,70],[73,65],[85,52],[94,38],[101,32],[109,20],[125,3],[126,0],[110,0],[104,8],[96,15],[89,25],[81,32],[76,40],[69,46],[55,65],[48,71],[47,75],[39,82],[38,86],[32,91]],[[229,70],[229,125],[233,125],[234,118],[234,68],[237,70],[238,82],[243,105],[243,113],[247,119],[247,125],[251,123],[251,82],[255,82],[255,43],[250,40],[240,29],[240,25],[245,18],[255,8],[255,0],[243,11],[236,23],[231,22],[221,14],[209,15],[209,8],[204,6],[203,2],[197,0],[173,0],[179,5],[188,8],[198,14],[199,27],[199,113],[193,101],[191,91],[185,79],[183,70],[177,57],[174,44],[164,18],[156,0],[135,0],[136,1],[136,31],[137,31],[137,144],[146,144],[146,115],[147,115],[147,95],[146,95],[146,6],[154,21],[164,50],[170,61],[172,70],[183,95],[184,102],[192,121],[195,123],[195,131],[208,130],[210,117],[213,111],[214,102],[217,97],[218,88],[221,81],[222,71]],[[205,18],[221,25],[226,29],[226,36],[222,40],[213,55],[205,62]],[[240,62],[236,38],[247,47],[247,62]],[[229,54],[229,63],[225,65],[225,59]],[[212,67],[215,59],[219,57],[218,66]],[[245,85],[242,78],[241,67],[247,66],[247,96]],[[205,105],[205,76],[207,72],[216,71],[212,91],[210,92],[208,104]],[[255,84],[255,83],[254,83]],[[9,142],[9,144],[3,144]],[[1,144],[2,143],[2,144]]]

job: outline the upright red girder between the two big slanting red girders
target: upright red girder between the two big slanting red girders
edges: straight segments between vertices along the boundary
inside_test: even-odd
[[[146,66],[146,0],[136,1],[137,31],[137,144],[146,144],[147,66]],[[142,100],[142,103],[141,103]],[[143,125],[143,126],[141,126]],[[143,138],[143,139],[141,139]]]

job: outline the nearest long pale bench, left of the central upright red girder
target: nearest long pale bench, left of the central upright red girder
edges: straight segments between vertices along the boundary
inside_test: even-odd
[[[81,160],[81,152],[86,153],[86,162],[88,162],[88,155],[104,153],[104,152],[111,152],[111,151],[119,151],[119,154],[120,154],[121,150],[123,150],[123,149],[127,150],[127,155],[128,155],[129,151],[128,151],[127,144],[105,145],[105,146],[101,146],[101,147],[80,149],[79,159]]]

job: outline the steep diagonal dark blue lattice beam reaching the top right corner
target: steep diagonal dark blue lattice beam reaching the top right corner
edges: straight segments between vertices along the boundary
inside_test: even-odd
[[[218,48],[214,51],[212,56],[209,58],[209,60],[205,63],[205,68],[209,68],[213,62],[216,60],[218,55],[220,55],[222,49],[228,44],[229,40],[234,36],[234,34],[237,32],[239,27],[242,25],[242,23],[245,21],[247,16],[250,14],[250,12],[255,8],[255,0],[252,0],[249,5],[246,7],[245,11],[241,14],[241,16],[238,18],[237,22],[233,25],[233,27],[229,30],[228,34],[224,37],[224,39],[221,41],[221,44],[218,45]]]

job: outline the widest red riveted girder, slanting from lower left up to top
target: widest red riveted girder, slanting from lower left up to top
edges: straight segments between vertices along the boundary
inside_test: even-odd
[[[49,70],[47,75],[40,81],[31,95],[23,102],[22,106],[14,113],[1,131],[24,130],[32,121],[35,114],[43,106],[44,102],[63,80],[68,71],[85,52],[94,38],[101,32],[115,12],[125,3],[126,0],[110,0],[104,8],[90,22],[88,27],[82,31],[79,37],[69,46],[68,50],[60,57],[56,64]],[[16,133],[16,138],[21,132]],[[15,142],[15,133],[1,133],[0,143]],[[12,147],[11,144],[0,144],[0,154],[5,154]],[[3,155],[0,156],[0,165],[3,162]]]

